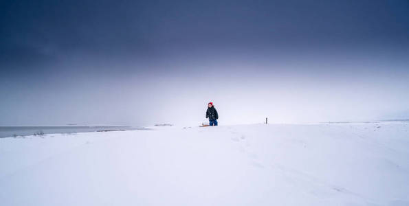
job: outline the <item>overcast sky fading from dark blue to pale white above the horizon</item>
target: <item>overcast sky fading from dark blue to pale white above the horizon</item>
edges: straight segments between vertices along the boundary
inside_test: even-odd
[[[2,1],[0,15],[2,125],[196,124],[209,100],[232,123],[409,115],[409,1]]]

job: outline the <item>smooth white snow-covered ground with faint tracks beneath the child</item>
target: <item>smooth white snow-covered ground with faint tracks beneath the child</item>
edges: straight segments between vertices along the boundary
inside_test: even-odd
[[[409,124],[0,139],[0,205],[409,205]]]

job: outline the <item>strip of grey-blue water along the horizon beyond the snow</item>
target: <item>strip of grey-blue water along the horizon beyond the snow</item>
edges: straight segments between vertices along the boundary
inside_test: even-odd
[[[112,130],[149,130],[143,126],[0,126],[0,138],[54,133],[91,133]]]

